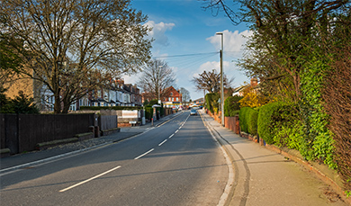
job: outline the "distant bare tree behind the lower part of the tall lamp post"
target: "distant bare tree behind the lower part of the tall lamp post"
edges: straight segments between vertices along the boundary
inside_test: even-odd
[[[233,80],[233,78],[228,79],[224,75],[223,86],[229,88]],[[211,72],[203,71],[202,74],[199,74],[199,77],[193,77],[192,81],[197,91],[206,90],[209,93],[220,92],[220,74],[215,69],[212,69]]]

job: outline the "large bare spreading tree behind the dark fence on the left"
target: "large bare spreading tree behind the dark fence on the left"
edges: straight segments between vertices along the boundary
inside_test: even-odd
[[[23,73],[53,93],[55,113],[112,76],[138,71],[150,56],[147,17],[130,0],[1,0],[0,10],[1,31],[31,53],[23,54]]]

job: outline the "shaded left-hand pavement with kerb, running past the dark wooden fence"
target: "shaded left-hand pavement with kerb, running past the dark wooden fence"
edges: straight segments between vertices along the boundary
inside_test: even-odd
[[[62,144],[40,151],[31,151],[28,153],[0,158],[0,174],[19,168],[30,167],[60,157],[74,155],[92,148],[103,147],[104,145],[121,141],[122,139],[129,139],[133,136],[145,132],[146,130],[157,127],[157,125],[160,125],[174,118],[178,114],[180,114],[180,112],[161,118],[160,120],[155,121],[153,126],[151,125],[151,122],[147,122],[142,126],[121,128],[120,132],[115,132],[111,135],[102,136],[96,139],[86,139],[84,141]]]

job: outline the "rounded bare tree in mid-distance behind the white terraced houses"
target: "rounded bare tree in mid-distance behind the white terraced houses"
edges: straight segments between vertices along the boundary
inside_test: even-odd
[[[150,99],[162,98],[166,88],[175,85],[175,74],[165,61],[152,59],[143,67],[138,85]]]

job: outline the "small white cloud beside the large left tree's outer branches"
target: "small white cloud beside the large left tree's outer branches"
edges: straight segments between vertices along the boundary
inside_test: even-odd
[[[145,23],[146,26],[152,28],[152,31],[149,31],[148,36],[149,38],[154,38],[154,43],[167,46],[169,44],[168,37],[166,36],[165,32],[167,30],[171,31],[175,26],[175,23],[169,22],[159,22],[156,23],[154,21],[148,21]]]

